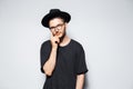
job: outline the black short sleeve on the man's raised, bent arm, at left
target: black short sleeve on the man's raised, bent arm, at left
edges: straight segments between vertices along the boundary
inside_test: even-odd
[[[40,62],[41,62],[41,71],[43,71],[43,65],[47,62],[49,56],[50,56],[50,50],[51,50],[51,47],[50,47],[50,42],[47,41],[47,42],[43,42],[42,46],[41,46],[41,49],[40,49]]]

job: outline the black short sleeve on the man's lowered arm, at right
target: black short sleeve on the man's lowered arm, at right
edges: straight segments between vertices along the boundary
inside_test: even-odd
[[[82,46],[78,48],[76,52],[76,75],[85,73],[88,72],[88,67],[85,62],[85,53]]]

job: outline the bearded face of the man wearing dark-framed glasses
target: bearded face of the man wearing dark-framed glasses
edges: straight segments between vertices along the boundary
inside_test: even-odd
[[[65,36],[66,22],[61,18],[53,18],[49,21],[49,29],[53,36],[63,38]]]

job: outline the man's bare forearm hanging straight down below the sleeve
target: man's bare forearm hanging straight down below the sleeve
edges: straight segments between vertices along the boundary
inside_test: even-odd
[[[84,73],[76,76],[75,89],[83,89],[83,85],[84,85]]]

